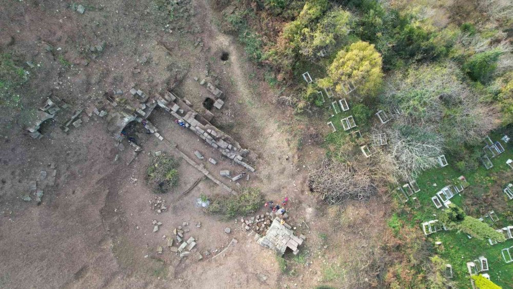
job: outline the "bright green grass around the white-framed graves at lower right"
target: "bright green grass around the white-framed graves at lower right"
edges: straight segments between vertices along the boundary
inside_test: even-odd
[[[490,136],[493,140],[499,140],[500,136]],[[475,200],[481,200],[483,195],[491,195],[499,202],[505,202],[506,208],[510,209],[513,201],[508,201],[506,195],[502,191],[505,184],[513,181],[511,179],[512,171],[506,165],[507,159],[513,159],[513,150],[511,144],[506,145],[501,141],[505,151],[498,157],[491,159],[494,167],[486,170],[483,165],[470,173],[461,174],[458,170],[451,167],[451,160],[447,159],[449,165],[444,168],[434,168],[424,172],[418,179],[417,183],[421,189],[413,197],[417,197],[421,203],[420,208],[415,209],[411,198],[400,208],[399,218],[409,226],[422,230],[422,223],[437,219],[442,208],[437,209],[431,201],[431,197],[444,186],[451,184],[452,180],[464,175],[469,183],[469,187],[461,193],[453,197],[450,201],[463,208],[469,216],[480,218],[484,214],[478,213],[483,211],[495,210],[499,217],[497,223],[492,223],[489,218],[485,218],[485,222],[489,223],[495,229],[502,228],[507,225],[513,225],[513,222],[507,221],[503,215],[504,211],[494,208],[489,203]],[[436,186],[434,186],[436,184]],[[472,202],[465,202],[465,198],[472,198]],[[504,208],[504,206],[503,206]],[[438,254],[452,265],[454,278],[458,287],[470,287],[469,274],[466,268],[466,262],[478,259],[484,256],[488,259],[489,271],[483,272],[490,275],[491,281],[502,286],[503,288],[513,287],[513,263],[506,264],[501,255],[501,249],[513,246],[513,240],[507,240],[504,243],[490,245],[488,240],[477,240],[476,238],[468,239],[464,233],[455,231],[442,231],[431,234],[427,237],[428,242],[434,246],[435,242],[442,242],[441,246],[434,246],[433,253]]]

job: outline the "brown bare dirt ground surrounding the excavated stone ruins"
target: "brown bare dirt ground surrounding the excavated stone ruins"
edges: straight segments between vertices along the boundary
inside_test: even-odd
[[[304,145],[298,150],[305,127],[294,121],[291,111],[272,103],[275,92],[263,80],[249,80],[254,67],[233,37],[216,28],[217,16],[209,4],[193,2],[195,14],[187,28],[172,32],[162,25],[151,1],[87,1],[82,3],[84,14],[72,11],[70,4],[0,0],[0,37],[14,38],[1,47],[2,52],[14,54],[21,65],[40,64],[19,88],[24,109],[9,116],[20,121],[5,120],[9,126],[4,126],[0,140],[0,287],[310,288],[326,283],[351,287],[344,276],[365,264],[347,260],[365,260],[360,256],[376,249],[383,238],[382,200],[333,211],[309,195],[306,171],[322,149]],[[200,32],[185,32],[196,28]],[[194,45],[198,38],[203,46]],[[91,53],[89,47],[102,41],[104,51]],[[45,49],[46,44],[53,47],[52,52]],[[219,59],[223,51],[230,55],[226,62]],[[143,57],[148,61],[142,63]],[[225,106],[212,110],[214,123],[253,152],[257,172],[242,185],[261,188],[275,202],[289,197],[289,222],[307,237],[301,248],[305,257],[291,263],[292,273],[280,271],[274,253],[247,237],[240,220],[207,215],[196,205],[201,194],[227,191],[202,180],[182,196],[203,177],[185,161],[180,165],[179,186],[160,195],[168,211],[151,210],[149,201],[155,194],[144,180],[145,170],[155,151],[176,153],[165,142],[137,134],[143,152],[130,162],[129,145],[125,143],[124,151],[114,147],[103,118],[86,117],[69,134],[58,127],[66,121],[65,113],[104,100],[106,91],[122,89],[123,98],[129,99],[128,90],[136,86],[151,95],[169,89],[184,73],[173,91],[202,111],[209,92],[193,78],[205,78],[207,63],[209,79],[216,80],[226,95]],[[22,129],[25,113],[41,106],[48,95],[61,98],[71,108],[44,126],[44,138],[30,139]],[[206,159],[216,158],[218,152],[174,124],[169,115],[155,111],[150,119],[191,159],[200,162],[193,155],[196,149]],[[114,161],[116,155],[119,160]],[[220,169],[242,168],[220,156],[216,166],[206,159],[201,163],[218,178]],[[37,205],[34,198],[23,201],[28,183],[41,170],[50,172],[52,164],[57,169],[56,182],[44,188],[42,203]],[[156,233],[152,220],[163,223]],[[181,259],[169,252],[164,236],[173,235],[183,222],[188,222],[190,230],[186,237],[193,236],[198,245],[191,256]],[[199,222],[201,227],[196,226]],[[224,233],[227,226],[230,234]],[[212,258],[232,238],[238,243]],[[163,254],[156,253],[157,246],[164,246]],[[355,257],[357,252],[360,255]],[[203,260],[196,258],[197,253]],[[326,268],[334,272],[342,268],[343,273],[326,278],[322,273]]]

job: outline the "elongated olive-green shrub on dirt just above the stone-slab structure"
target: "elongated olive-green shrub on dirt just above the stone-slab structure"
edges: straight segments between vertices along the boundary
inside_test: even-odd
[[[210,198],[207,213],[221,214],[226,218],[255,213],[264,203],[264,195],[258,188],[245,188],[241,194],[215,195]]]

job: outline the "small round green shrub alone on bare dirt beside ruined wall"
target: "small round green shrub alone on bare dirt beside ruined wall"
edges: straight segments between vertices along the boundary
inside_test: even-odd
[[[146,178],[154,192],[167,192],[178,184],[179,162],[167,154],[157,157],[146,169]]]

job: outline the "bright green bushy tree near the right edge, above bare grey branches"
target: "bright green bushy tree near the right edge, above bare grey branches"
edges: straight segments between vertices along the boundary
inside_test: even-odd
[[[463,65],[470,79],[487,83],[497,69],[497,61],[503,52],[499,49],[488,50],[472,55]]]

